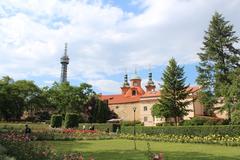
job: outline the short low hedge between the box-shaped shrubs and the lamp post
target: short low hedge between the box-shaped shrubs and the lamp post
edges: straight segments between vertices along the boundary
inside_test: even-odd
[[[79,123],[79,129],[89,129],[92,125],[94,125],[94,129],[105,132],[108,128],[110,132],[116,132],[117,128],[120,129],[120,124],[115,123]]]

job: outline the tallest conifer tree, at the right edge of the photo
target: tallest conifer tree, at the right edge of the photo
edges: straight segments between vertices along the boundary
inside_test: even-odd
[[[196,80],[202,86],[200,102],[205,109],[213,110],[217,99],[223,97],[229,119],[232,106],[227,91],[232,85],[229,75],[240,67],[240,52],[234,47],[239,39],[234,34],[233,25],[216,12],[205,32],[202,52],[198,53],[200,63],[197,66],[199,75]]]

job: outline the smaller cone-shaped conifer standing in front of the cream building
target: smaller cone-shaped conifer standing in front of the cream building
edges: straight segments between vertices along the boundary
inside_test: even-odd
[[[179,118],[187,115],[186,107],[191,100],[187,100],[189,85],[185,85],[184,68],[177,65],[175,59],[169,61],[169,65],[163,73],[163,85],[158,105],[153,108],[153,116],[174,118],[178,124]]]

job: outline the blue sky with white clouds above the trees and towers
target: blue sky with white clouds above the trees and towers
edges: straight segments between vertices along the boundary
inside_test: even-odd
[[[168,60],[185,67],[196,85],[196,53],[215,11],[240,33],[239,0],[8,0],[0,2],[0,76],[60,78],[68,43],[68,80],[87,82],[98,93],[119,93],[123,75],[137,69],[146,83],[149,66],[156,84]]]

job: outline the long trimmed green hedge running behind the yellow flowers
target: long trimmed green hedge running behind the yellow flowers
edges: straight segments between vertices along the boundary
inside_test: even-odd
[[[133,134],[132,126],[121,126],[121,133]],[[239,136],[240,125],[218,125],[218,126],[165,126],[165,127],[144,127],[136,126],[137,134],[173,134],[207,136],[212,134]]]

